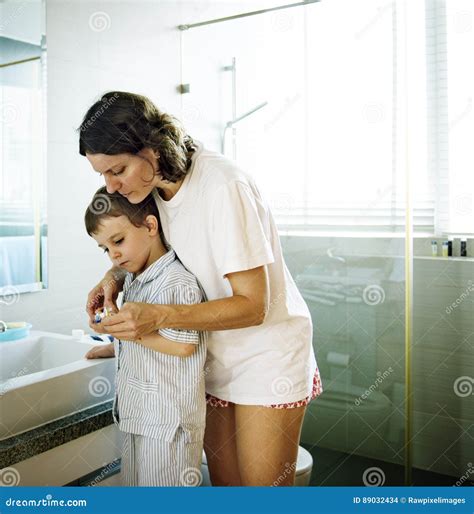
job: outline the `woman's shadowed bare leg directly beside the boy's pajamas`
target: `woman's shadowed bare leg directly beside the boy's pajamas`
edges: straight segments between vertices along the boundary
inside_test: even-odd
[[[207,406],[204,451],[212,485],[241,485],[235,445],[233,403],[228,407]]]

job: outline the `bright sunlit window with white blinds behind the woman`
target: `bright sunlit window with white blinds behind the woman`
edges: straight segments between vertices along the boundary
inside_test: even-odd
[[[410,199],[415,233],[472,234],[473,32],[468,0],[331,0],[198,27],[183,121],[208,142],[235,117],[235,57],[236,115],[267,105],[226,152],[234,138],[282,230],[404,234]]]

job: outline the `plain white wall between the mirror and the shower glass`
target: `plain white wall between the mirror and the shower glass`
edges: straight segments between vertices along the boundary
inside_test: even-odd
[[[2,319],[26,320],[37,330],[65,334],[72,328],[89,330],[87,293],[109,262],[83,224],[84,210],[102,185],[78,153],[76,128],[87,108],[105,91],[128,90],[149,96],[186,122],[176,91],[177,26],[277,3],[46,0],[49,286],[1,306]]]

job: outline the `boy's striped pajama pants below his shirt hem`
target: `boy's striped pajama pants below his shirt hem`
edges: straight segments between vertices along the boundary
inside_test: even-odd
[[[122,434],[123,486],[201,485],[202,441],[186,442],[181,429],[171,443],[128,432]]]

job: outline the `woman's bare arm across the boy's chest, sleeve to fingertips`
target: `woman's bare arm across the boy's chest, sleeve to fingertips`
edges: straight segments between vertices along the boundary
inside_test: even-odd
[[[229,273],[227,278],[233,292],[229,298],[196,305],[126,303],[118,314],[104,318],[100,331],[136,340],[160,328],[212,331],[262,324],[268,311],[266,267]]]

